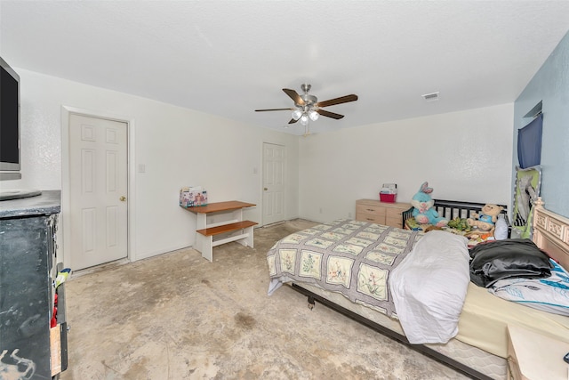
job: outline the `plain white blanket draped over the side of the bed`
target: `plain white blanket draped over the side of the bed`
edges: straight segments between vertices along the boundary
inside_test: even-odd
[[[469,286],[468,240],[433,230],[390,273],[397,318],[411,344],[446,343],[458,333]]]

